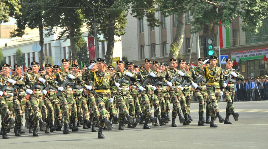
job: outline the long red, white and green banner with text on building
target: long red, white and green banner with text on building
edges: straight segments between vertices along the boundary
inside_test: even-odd
[[[266,53],[268,53],[268,47],[254,50],[244,50],[232,52],[232,60],[236,60],[236,57],[239,57],[241,61],[248,61],[253,59],[261,59]]]

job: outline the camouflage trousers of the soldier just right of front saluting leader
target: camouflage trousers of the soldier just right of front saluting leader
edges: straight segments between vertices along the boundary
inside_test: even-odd
[[[134,101],[133,101],[131,95],[124,95],[123,96],[123,95],[116,94],[115,97],[116,97],[116,106],[118,106],[118,108],[119,108],[119,115],[118,116],[120,118],[120,121],[124,121],[126,115],[128,115],[128,114],[130,114],[131,116],[132,115],[135,116]],[[132,102],[132,105],[131,105],[132,111],[128,110],[129,109],[128,107],[130,107],[129,99],[130,99],[130,102]],[[132,113],[130,113],[130,112],[132,112]]]

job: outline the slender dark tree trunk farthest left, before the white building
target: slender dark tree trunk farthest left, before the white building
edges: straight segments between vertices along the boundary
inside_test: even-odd
[[[39,17],[39,20],[38,20],[38,28],[39,28],[39,45],[41,46],[41,50],[39,51],[39,63],[41,66],[43,66],[44,64],[44,60],[45,60],[45,55],[44,55],[44,50],[43,50],[43,47],[44,47],[44,37],[43,37],[43,18]],[[30,65],[30,64],[29,64]]]

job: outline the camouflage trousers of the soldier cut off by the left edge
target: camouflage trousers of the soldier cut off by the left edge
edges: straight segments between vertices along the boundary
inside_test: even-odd
[[[5,96],[1,96],[0,98],[0,114],[1,114],[1,121],[3,122],[2,127],[4,127],[4,129],[7,129],[8,120],[12,118],[11,116],[12,114],[10,113],[5,98],[6,98]]]

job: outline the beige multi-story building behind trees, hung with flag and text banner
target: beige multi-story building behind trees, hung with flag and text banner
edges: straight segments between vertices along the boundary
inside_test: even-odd
[[[122,53],[128,61],[140,65],[144,65],[144,58],[160,62],[169,61],[170,45],[176,34],[177,15],[164,17],[157,12],[155,16],[163,22],[161,26],[155,28],[148,26],[146,17],[138,20],[131,15],[127,16],[126,34],[122,36]],[[183,45],[179,53],[183,59],[189,61],[192,50],[190,62],[197,65],[197,49],[200,48],[200,55],[203,57],[204,42],[202,31],[197,34],[198,36],[189,33],[190,19],[190,12],[187,12]],[[263,60],[263,56],[268,52],[268,19],[264,20],[258,34],[242,31],[241,23],[241,18],[237,17],[229,24],[228,29],[216,26],[214,46],[220,46],[221,55],[228,55],[228,58],[236,60],[239,56],[241,66],[239,72],[245,77],[268,75],[268,63]],[[215,48],[215,52],[219,54],[218,48]],[[224,64],[221,66],[225,67]]]

